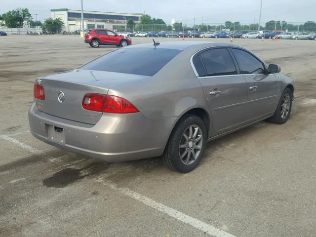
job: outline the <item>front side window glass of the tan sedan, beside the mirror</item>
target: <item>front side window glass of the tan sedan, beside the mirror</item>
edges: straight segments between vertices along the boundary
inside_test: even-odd
[[[264,74],[265,68],[263,64],[250,53],[232,48],[234,56],[237,59],[240,71],[242,74]]]

